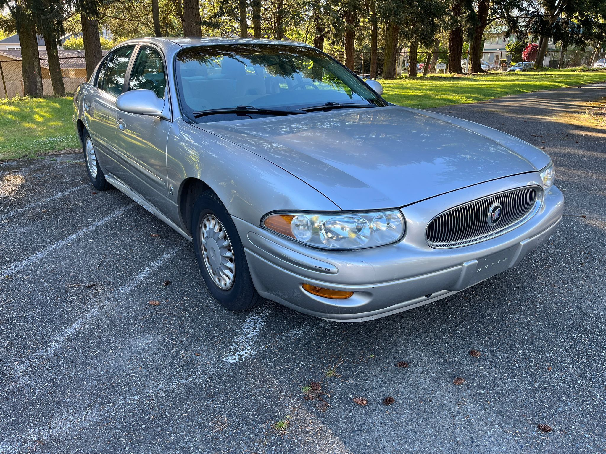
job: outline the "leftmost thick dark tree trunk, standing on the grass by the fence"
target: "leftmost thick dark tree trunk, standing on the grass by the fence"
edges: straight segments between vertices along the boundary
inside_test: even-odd
[[[15,26],[21,44],[21,75],[23,77],[24,96],[41,97],[42,74],[40,72],[40,54],[36,25],[32,15],[25,10],[21,2],[16,2],[14,10]]]

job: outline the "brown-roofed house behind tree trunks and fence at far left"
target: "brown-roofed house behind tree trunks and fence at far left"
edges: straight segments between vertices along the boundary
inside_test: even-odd
[[[107,54],[107,50],[102,54]],[[40,69],[42,73],[42,91],[45,96],[53,94],[48,69],[48,54],[39,50]],[[86,79],[86,61],[83,50],[59,49],[59,62],[63,75],[65,91],[72,93]],[[0,99],[23,95],[23,76],[21,73],[21,49],[0,50]]]

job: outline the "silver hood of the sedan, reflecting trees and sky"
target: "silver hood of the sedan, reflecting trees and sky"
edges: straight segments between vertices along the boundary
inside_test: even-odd
[[[501,131],[399,106],[196,126],[280,166],[344,210],[404,206],[549,162]]]

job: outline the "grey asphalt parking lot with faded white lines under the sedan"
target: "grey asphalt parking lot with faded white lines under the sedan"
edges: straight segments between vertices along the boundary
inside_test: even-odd
[[[601,97],[438,109],[545,147],[564,219],[518,267],[358,324],[225,311],[80,154],[0,164],[0,453],[605,452],[606,131],[562,120]]]

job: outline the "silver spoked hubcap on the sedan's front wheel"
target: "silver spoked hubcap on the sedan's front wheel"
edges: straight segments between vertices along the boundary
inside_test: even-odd
[[[233,250],[225,227],[213,214],[207,214],[202,219],[200,244],[206,269],[213,282],[220,289],[230,289],[235,271]]]

